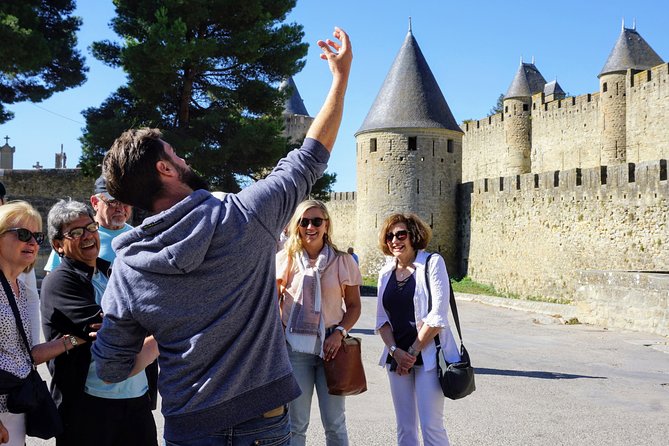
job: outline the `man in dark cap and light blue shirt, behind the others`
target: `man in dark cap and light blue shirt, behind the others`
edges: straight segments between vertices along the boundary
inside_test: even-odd
[[[91,206],[95,210],[95,221],[100,225],[100,254],[98,257],[114,263],[116,253],[112,249],[111,241],[132,229],[126,221],[132,213],[132,206],[115,200],[107,192],[107,184],[103,176],[95,180],[95,193],[91,195]],[[51,251],[44,271],[51,272],[60,265],[60,257],[56,251]]]

